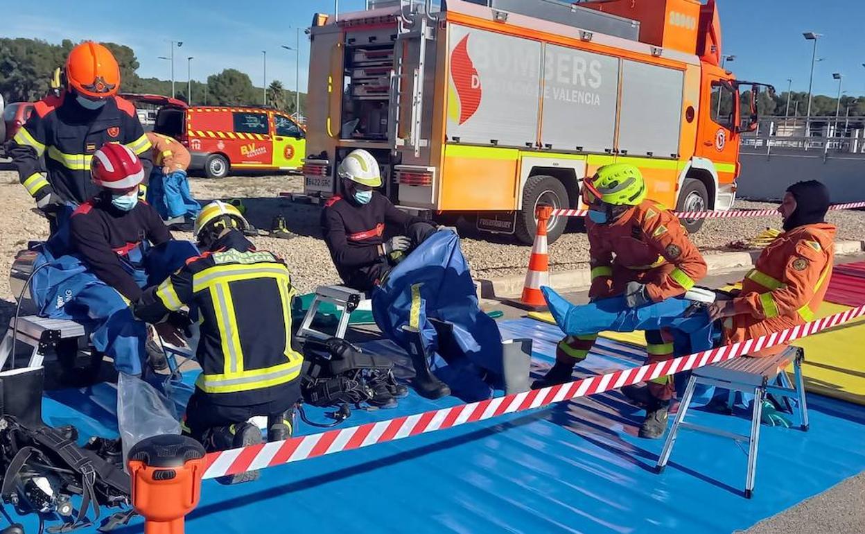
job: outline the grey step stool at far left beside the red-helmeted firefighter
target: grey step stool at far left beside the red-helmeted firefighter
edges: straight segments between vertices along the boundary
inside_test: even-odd
[[[14,338],[17,338],[18,344],[33,349],[27,367],[35,367],[42,365],[46,355],[56,349],[61,339],[80,338],[85,335],[84,326],[66,319],[26,315],[17,318],[17,323],[17,336],[15,336],[16,318],[11,318],[3,343],[0,343],[0,370],[3,370],[6,360],[10,357],[14,362],[15,355],[12,354]]]

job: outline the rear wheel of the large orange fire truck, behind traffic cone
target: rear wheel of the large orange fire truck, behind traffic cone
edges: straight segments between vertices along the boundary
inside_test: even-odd
[[[527,245],[535,241],[535,208],[538,204],[547,204],[554,209],[570,207],[565,185],[554,177],[543,175],[529,177],[526,181],[522,190],[522,209],[516,214],[516,238]],[[551,217],[547,223],[547,242],[559,239],[566,225],[567,217]]]

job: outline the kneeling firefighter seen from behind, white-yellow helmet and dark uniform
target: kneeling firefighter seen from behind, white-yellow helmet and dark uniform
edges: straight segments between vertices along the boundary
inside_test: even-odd
[[[292,435],[303,357],[292,349],[291,275],[276,255],[256,250],[243,235],[246,219],[234,206],[209,203],[195,220],[204,252],[134,305],[136,317],[159,323],[189,306],[200,320],[196,359],[202,374],[186,409],[184,431],[208,451],[261,442],[247,422],[267,417],[268,441]],[[182,344],[174,338],[174,344]],[[170,339],[169,339],[170,340]],[[246,482],[258,472],[223,480]]]

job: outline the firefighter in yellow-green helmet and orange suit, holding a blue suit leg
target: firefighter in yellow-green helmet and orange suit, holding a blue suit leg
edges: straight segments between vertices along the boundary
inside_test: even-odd
[[[590,299],[624,293],[627,306],[641,306],[681,295],[706,275],[706,262],[676,216],[646,199],[637,167],[611,164],[599,168],[583,181],[583,200],[589,206]],[[674,356],[671,331],[646,331],[645,336],[648,363]],[[533,387],[569,382],[574,365],[586,359],[597,337],[563,338],[556,346],[554,366]],[[676,395],[673,377],[626,386],[622,393],[646,409],[640,437],[661,437],[667,428],[670,400]]]

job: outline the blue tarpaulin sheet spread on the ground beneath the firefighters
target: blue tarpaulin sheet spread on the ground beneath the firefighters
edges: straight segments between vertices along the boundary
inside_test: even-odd
[[[561,332],[531,319],[500,323],[504,338],[533,338],[535,373]],[[363,345],[407,359],[393,344]],[[577,375],[642,364],[643,352],[601,339]],[[191,380],[191,376],[187,376]],[[116,390],[53,392],[50,424],[116,433]],[[186,531],[732,532],[865,470],[865,408],[811,395],[811,430],[763,427],[753,499],[744,499],[746,445],[682,430],[670,465],[654,472],[663,441],[636,437],[643,412],[618,391],[406,440],[262,471],[257,482],[205,480]],[[356,410],[349,424],[456,404],[412,393],[397,409]],[[320,411],[311,416],[320,417]],[[749,415],[700,409],[689,421],[746,433]],[[298,423],[302,434],[316,429]],[[35,521],[27,518],[28,532]],[[143,531],[140,518],[116,532]]]

